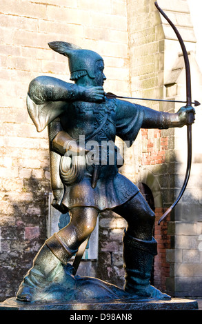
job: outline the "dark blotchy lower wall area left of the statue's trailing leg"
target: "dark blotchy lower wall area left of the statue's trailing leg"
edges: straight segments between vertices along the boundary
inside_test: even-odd
[[[0,301],[14,296],[46,240],[49,181],[23,179],[21,192],[5,192],[0,236]]]

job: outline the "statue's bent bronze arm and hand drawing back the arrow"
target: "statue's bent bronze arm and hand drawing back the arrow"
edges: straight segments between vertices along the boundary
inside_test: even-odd
[[[102,87],[82,87],[60,79],[41,76],[30,82],[28,95],[34,103],[41,105],[47,101],[94,101],[104,99]]]

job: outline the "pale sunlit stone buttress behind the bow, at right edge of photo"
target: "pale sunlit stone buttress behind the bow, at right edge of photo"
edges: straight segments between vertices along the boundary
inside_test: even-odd
[[[201,102],[201,71],[199,65],[199,51],[197,49],[197,28],[193,27],[195,18],[192,17],[192,8],[200,10],[201,4],[190,1],[175,1],[164,5],[165,10],[176,24],[185,41],[189,52],[192,99],[198,98]],[[200,12],[200,11],[199,11]],[[199,14],[198,14],[199,19]],[[185,98],[185,68],[181,48],[175,36],[168,32],[169,26],[163,23],[165,35],[165,97],[168,99],[181,100]],[[176,53],[175,55],[173,53]],[[197,59],[198,57],[198,59]],[[180,99],[181,98],[181,99]],[[180,105],[174,106],[174,112]],[[192,126],[192,169],[190,181],[181,201],[172,213],[172,222],[168,226],[168,234],[171,237],[171,249],[167,250],[166,261],[170,263],[170,278],[166,286],[170,294],[174,296],[201,296],[202,287],[202,264],[201,250],[199,249],[201,235],[201,111],[196,108],[196,121]],[[187,163],[187,139],[186,128],[174,131],[174,170],[172,174],[172,188],[174,197],[179,194]]]

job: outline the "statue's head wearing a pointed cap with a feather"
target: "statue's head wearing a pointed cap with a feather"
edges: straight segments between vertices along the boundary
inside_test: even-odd
[[[104,63],[103,58],[97,52],[83,50],[77,45],[65,43],[64,41],[52,41],[48,45],[52,50],[68,57],[71,73],[70,80],[77,82],[79,78],[88,75],[90,79],[94,79],[94,85],[103,85],[103,81],[106,79],[103,74]],[[102,78],[100,72],[103,74]]]

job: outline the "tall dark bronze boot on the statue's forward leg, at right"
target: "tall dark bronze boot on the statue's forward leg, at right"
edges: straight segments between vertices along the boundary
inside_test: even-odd
[[[156,299],[170,299],[150,285],[152,263],[156,252],[156,240],[143,241],[127,232],[123,235],[123,267],[125,268],[124,290],[131,294]]]

